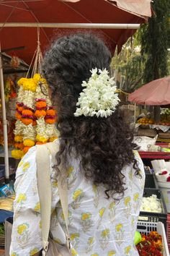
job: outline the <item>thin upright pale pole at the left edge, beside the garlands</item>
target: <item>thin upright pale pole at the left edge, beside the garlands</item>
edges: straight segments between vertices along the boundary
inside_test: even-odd
[[[8,183],[9,182],[8,133],[7,133],[6,107],[5,107],[5,97],[4,97],[4,76],[3,76],[2,59],[1,59],[1,44],[0,44],[0,87],[1,87],[2,121],[3,121],[3,131],[4,131],[5,180],[6,180],[6,183]]]

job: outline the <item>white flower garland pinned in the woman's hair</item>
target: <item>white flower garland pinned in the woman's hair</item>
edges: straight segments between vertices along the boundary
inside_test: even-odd
[[[97,72],[99,74],[97,74]],[[109,77],[107,69],[92,69],[89,81],[83,81],[84,89],[76,103],[74,116],[101,116],[107,118],[115,112],[120,99],[115,93],[117,88],[114,78]]]

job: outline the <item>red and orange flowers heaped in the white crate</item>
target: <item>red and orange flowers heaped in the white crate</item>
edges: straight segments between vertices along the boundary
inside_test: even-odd
[[[157,231],[151,231],[147,236],[142,234],[136,248],[140,256],[163,256],[162,236]]]

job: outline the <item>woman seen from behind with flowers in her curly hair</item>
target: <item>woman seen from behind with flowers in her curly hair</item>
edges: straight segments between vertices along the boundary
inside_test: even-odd
[[[133,244],[143,197],[143,163],[133,149],[133,134],[117,109],[109,79],[109,49],[99,38],[75,34],[59,38],[45,54],[43,73],[58,110],[58,165],[65,163],[68,231],[72,255],[138,255]],[[85,82],[83,82],[85,81]],[[42,249],[37,195],[36,147],[17,169],[11,255],[35,255]],[[53,163],[51,163],[53,166]],[[52,183],[50,231],[63,229],[58,187]]]

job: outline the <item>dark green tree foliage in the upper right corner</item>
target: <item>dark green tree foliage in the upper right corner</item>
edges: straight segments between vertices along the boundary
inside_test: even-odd
[[[155,0],[152,7],[153,16],[138,32],[141,54],[146,59],[143,82],[150,82],[168,74],[170,1]]]

